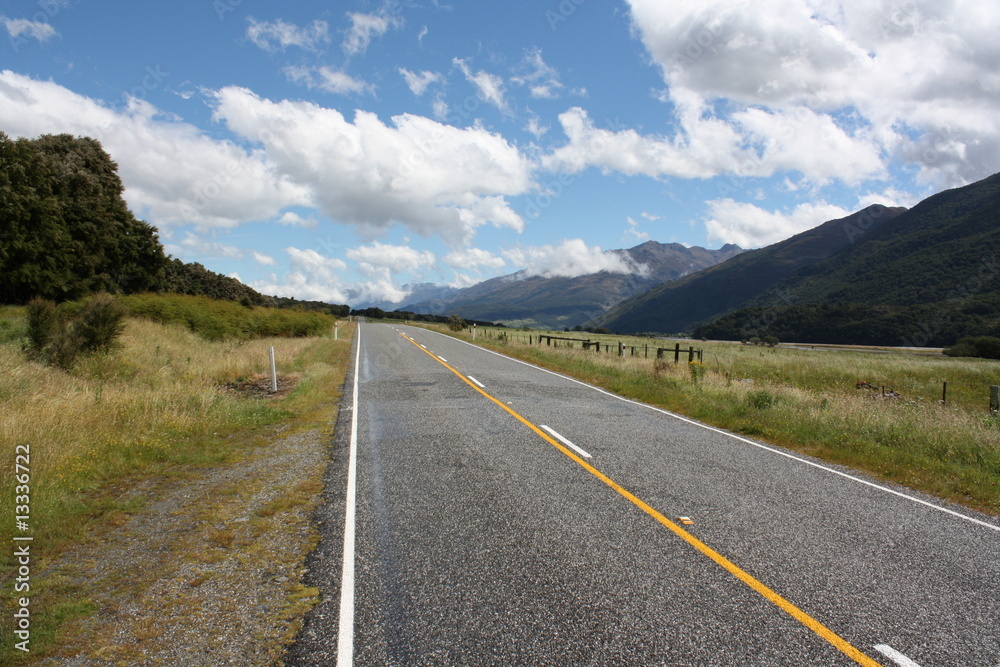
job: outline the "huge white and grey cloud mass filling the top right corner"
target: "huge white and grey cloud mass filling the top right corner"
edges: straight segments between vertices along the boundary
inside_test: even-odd
[[[855,184],[899,159],[954,185],[1000,170],[996,3],[629,5],[670,97],[725,101],[724,120],[764,149],[760,173]]]

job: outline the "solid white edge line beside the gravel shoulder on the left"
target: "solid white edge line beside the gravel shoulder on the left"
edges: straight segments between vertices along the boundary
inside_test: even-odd
[[[354,391],[351,399],[351,444],[347,463],[347,497],[344,501],[344,563],[340,577],[340,624],[337,629],[337,667],[354,664],[354,524],[358,488],[358,376],[361,374],[361,325],[354,358]]]

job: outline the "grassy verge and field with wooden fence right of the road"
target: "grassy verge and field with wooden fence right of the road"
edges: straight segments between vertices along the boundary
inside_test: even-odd
[[[614,348],[620,341],[630,353],[635,346],[638,356],[585,352],[568,341],[539,345],[539,333]],[[469,340],[472,334],[452,335]],[[476,342],[628,398],[1000,515],[1000,417],[989,410],[989,387],[1000,384],[997,361],[684,341],[675,364],[675,341],[649,338],[479,328]],[[671,350],[657,360],[660,346]],[[704,350],[701,363],[688,363],[689,346]]]

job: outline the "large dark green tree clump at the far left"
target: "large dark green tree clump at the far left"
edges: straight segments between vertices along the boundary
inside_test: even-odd
[[[117,169],[94,139],[0,132],[0,299],[66,301],[162,281],[163,247],[128,210]]]

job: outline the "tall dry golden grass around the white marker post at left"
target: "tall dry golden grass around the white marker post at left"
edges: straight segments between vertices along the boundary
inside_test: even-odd
[[[17,315],[0,314],[8,322]],[[0,389],[7,457],[0,493],[13,490],[15,447],[29,445],[33,534],[55,542],[75,534],[102,509],[87,494],[151,471],[224,461],[227,434],[287,416],[285,406],[221,384],[267,373],[272,345],[279,373],[300,370],[299,358],[316,342],[208,342],[180,326],[132,319],[116,349],[82,359],[70,373],[28,361],[16,341],[0,344],[0,377],[8,378]]]

